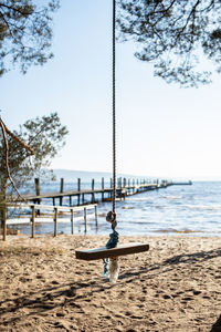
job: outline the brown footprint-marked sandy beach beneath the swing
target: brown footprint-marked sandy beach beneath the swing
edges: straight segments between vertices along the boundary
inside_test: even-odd
[[[0,331],[221,331],[220,238],[122,237],[150,250],[122,257],[116,283],[102,277],[101,260],[75,259],[76,248],[106,240],[0,240]]]

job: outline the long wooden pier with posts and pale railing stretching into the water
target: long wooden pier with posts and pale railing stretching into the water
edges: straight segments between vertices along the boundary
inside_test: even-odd
[[[155,180],[150,183],[149,180],[130,180],[130,179],[122,179],[119,178],[117,180],[117,188],[116,188],[116,199],[125,199],[128,196],[141,194],[149,190],[158,190],[161,188],[167,188],[168,186],[172,185],[191,185],[191,181],[187,183],[172,183],[168,180]],[[86,232],[87,228],[87,210],[94,209],[94,219],[95,225],[97,227],[97,203],[98,201],[110,201],[113,195],[113,187],[112,187],[112,179],[110,179],[110,186],[105,188],[105,181],[104,178],[102,178],[101,188],[95,188],[95,180],[92,179],[92,187],[87,189],[81,188],[81,179],[77,179],[77,190],[66,190],[64,191],[64,179],[61,179],[61,186],[60,191],[57,193],[42,193],[40,189],[40,180],[35,179],[35,194],[27,194],[21,195],[22,198],[18,199],[17,203],[11,200],[11,197],[8,197],[8,204],[2,208],[3,210],[3,219],[2,219],[2,237],[3,240],[6,240],[7,237],[7,226],[13,225],[14,222],[10,221],[10,219],[7,218],[7,210],[11,208],[15,209],[29,209],[31,210],[31,215],[29,217],[29,225],[30,225],[30,231],[31,237],[34,237],[34,229],[35,229],[35,222],[42,222],[40,221],[39,217],[42,214],[42,210],[52,210],[52,222],[54,224],[54,236],[57,235],[57,219],[59,214],[65,214],[70,215],[70,222],[71,222],[71,232],[74,232],[74,214],[76,211],[82,210],[83,212],[83,219],[84,219],[84,228]],[[87,197],[85,197],[87,196]],[[63,206],[64,204],[64,197],[69,197],[69,206]],[[72,199],[75,197],[75,201]],[[86,199],[87,198],[87,199]],[[53,205],[42,205],[42,201],[44,199],[52,199]],[[10,201],[11,200],[11,201]],[[24,203],[25,200],[25,203]],[[59,204],[56,204],[59,203]],[[49,204],[49,203],[46,203]],[[49,214],[49,212],[48,212]],[[82,217],[80,217],[82,219]],[[48,222],[48,221],[46,221]],[[62,222],[62,221],[60,221]],[[21,224],[21,220],[18,222]]]

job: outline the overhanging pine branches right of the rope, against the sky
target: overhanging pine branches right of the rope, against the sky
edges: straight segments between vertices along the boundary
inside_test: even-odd
[[[200,68],[206,55],[221,72],[221,2],[219,0],[118,0],[119,40],[134,40],[135,55],[154,64],[168,83],[210,83]]]

